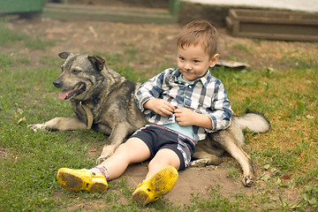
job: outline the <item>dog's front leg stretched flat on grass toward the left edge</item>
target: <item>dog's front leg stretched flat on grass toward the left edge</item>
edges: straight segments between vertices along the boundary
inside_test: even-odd
[[[66,131],[87,129],[87,125],[79,121],[77,117],[55,117],[48,122],[42,124],[27,125],[27,127],[34,130],[34,132],[38,130]]]

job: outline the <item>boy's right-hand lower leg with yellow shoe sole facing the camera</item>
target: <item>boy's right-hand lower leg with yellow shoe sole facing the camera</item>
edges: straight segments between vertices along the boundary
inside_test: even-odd
[[[133,200],[147,205],[169,193],[176,185],[180,159],[169,148],[160,149],[148,164],[146,179],[133,192]]]

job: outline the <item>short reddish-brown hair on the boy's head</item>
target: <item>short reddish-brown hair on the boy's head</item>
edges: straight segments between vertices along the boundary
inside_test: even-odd
[[[193,20],[183,27],[178,34],[178,47],[201,44],[210,58],[216,55],[217,31],[206,20]]]

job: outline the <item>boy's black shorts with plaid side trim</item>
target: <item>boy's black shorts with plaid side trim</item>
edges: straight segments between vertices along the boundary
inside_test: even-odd
[[[160,125],[146,125],[133,133],[131,137],[143,140],[147,144],[152,157],[160,149],[169,148],[173,150],[180,159],[179,170],[186,169],[195,151],[194,140]]]

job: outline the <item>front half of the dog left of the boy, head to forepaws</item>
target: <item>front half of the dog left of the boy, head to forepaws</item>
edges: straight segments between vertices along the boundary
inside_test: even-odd
[[[97,159],[97,163],[102,163],[129,135],[147,124],[134,102],[134,91],[140,85],[109,69],[102,57],[68,52],[58,56],[64,59],[64,64],[53,85],[62,89],[59,99],[70,100],[76,117],[55,117],[28,127],[34,131],[92,128],[110,135]]]

